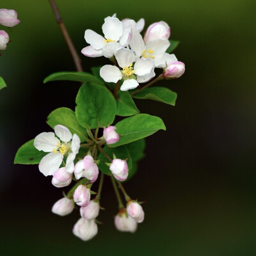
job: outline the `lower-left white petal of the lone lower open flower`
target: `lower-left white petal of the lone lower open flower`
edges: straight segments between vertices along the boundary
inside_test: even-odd
[[[40,172],[45,176],[53,175],[53,173],[59,169],[62,158],[63,156],[60,153],[55,154],[54,152],[51,152],[47,154],[39,163],[38,167]]]

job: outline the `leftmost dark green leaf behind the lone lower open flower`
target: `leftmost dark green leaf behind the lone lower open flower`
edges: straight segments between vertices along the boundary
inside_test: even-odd
[[[15,164],[39,164],[41,159],[49,153],[39,151],[34,146],[34,140],[22,145],[16,153]]]

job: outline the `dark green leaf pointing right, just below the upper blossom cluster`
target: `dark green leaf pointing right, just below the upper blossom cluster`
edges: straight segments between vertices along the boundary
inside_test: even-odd
[[[132,97],[136,99],[148,99],[157,100],[172,106],[175,106],[175,101],[177,99],[177,93],[172,92],[170,89],[165,87],[151,87],[145,88],[141,92],[134,94]]]

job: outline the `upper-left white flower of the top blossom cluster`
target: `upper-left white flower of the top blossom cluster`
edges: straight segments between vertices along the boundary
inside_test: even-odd
[[[123,28],[123,24],[116,17],[106,17],[102,26],[104,37],[86,29],[84,39],[88,44],[82,49],[82,53],[87,57],[111,58],[120,47],[126,47],[131,42],[132,29]]]

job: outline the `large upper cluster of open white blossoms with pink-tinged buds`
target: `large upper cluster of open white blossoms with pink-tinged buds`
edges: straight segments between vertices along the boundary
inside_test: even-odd
[[[115,65],[104,65],[100,69],[104,81],[122,81],[120,90],[127,91],[155,77],[155,68],[163,69],[164,78],[182,76],[184,63],[178,61],[174,54],[166,53],[170,47],[170,27],[166,22],[151,24],[142,37],[140,33],[145,26],[144,19],[138,22],[131,19],[120,21],[113,15],[104,21],[104,37],[86,29],[84,39],[90,45],[81,51],[88,57],[104,56],[113,61]]]

